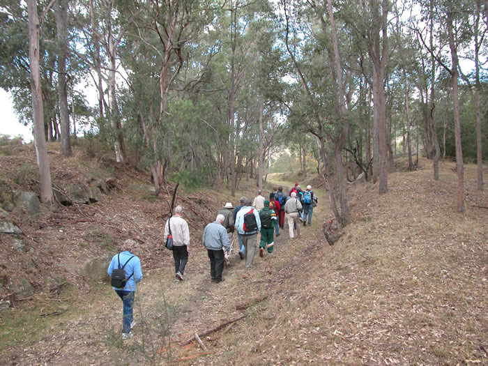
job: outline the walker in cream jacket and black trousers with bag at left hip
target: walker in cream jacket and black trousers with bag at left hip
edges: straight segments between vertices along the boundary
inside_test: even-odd
[[[181,215],[183,215],[183,206],[178,205],[174,208],[174,216],[171,216],[165,224],[165,236],[162,241],[166,243],[166,239],[169,236],[169,229],[171,229],[171,236],[173,237],[174,272],[177,281],[183,281],[183,273],[185,273],[185,266],[188,263],[188,245],[190,245],[188,222]]]

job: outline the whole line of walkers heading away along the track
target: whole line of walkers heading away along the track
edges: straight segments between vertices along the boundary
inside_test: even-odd
[[[284,229],[285,213],[287,214],[289,237],[293,239],[296,238],[295,231],[300,237],[301,225],[307,226],[312,223],[313,208],[316,205],[317,197],[315,197],[312,187],[307,185],[307,189],[303,191],[298,183],[291,188],[289,195],[284,194],[282,187],[275,187],[273,192],[270,192],[269,199],[266,199],[259,190],[253,201],[241,197],[239,205],[236,207],[227,202],[218,211],[215,221],[206,225],[201,238],[210,260],[211,281],[215,283],[224,281],[222,273],[224,266],[230,263],[236,236],[239,243],[238,255],[241,260],[245,260],[245,268],[251,269],[258,249],[259,233],[261,234],[259,257],[264,257],[265,252],[272,255],[275,246],[274,236],[275,234],[280,236],[280,229]],[[188,222],[182,215],[183,206],[176,206],[174,215],[165,224],[163,238],[163,243],[166,243],[169,235],[173,240],[172,252],[177,282],[183,281],[190,245]],[[115,270],[125,270],[122,287],[113,286],[123,301],[123,340],[132,337],[132,327],[135,324],[132,317],[134,293],[137,282],[142,280],[141,261],[139,257],[132,254],[136,247],[136,241],[126,240],[123,243],[123,251],[112,258],[107,270],[109,276],[112,277],[112,285],[114,285]]]

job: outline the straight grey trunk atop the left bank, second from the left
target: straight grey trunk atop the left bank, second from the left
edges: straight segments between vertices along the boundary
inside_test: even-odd
[[[68,83],[66,82],[66,59],[68,58],[68,0],[54,1],[56,17],[56,40],[60,49],[58,54],[58,102],[61,119],[61,155],[70,156],[70,119],[68,113]]]

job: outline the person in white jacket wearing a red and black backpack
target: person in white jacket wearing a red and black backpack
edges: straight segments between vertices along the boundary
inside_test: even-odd
[[[254,254],[257,247],[257,233],[261,231],[261,220],[256,208],[251,206],[251,200],[245,201],[245,206],[241,207],[236,216],[236,229],[244,244],[245,268],[252,268]]]

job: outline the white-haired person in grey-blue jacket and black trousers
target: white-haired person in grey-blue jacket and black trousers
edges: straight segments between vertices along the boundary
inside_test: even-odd
[[[206,247],[208,259],[210,259],[210,276],[212,282],[224,281],[222,271],[224,270],[224,248],[227,253],[231,251],[227,230],[223,227],[224,215],[219,214],[214,222],[205,227],[201,243]]]

